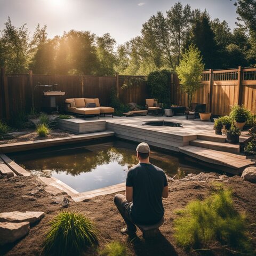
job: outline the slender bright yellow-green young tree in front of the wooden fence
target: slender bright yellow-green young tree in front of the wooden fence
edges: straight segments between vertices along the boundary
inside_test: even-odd
[[[188,94],[188,107],[191,107],[192,97],[201,87],[204,64],[200,51],[195,45],[190,45],[182,54],[180,65],[176,68],[183,92]]]

